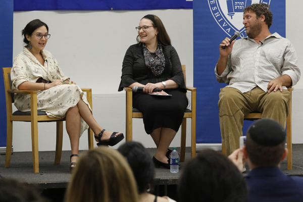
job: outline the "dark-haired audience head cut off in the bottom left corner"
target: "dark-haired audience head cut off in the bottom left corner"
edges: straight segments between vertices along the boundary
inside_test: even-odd
[[[34,187],[15,179],[0,179],[0,201],[2,202],[42,202],[43,198]]]

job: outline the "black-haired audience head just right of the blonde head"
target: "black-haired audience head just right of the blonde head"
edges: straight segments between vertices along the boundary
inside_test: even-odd
[[[118,151],[127,159],[134,173],[139,194],[153,188],[155,167],[144,146],[139,142],[125,142]]]

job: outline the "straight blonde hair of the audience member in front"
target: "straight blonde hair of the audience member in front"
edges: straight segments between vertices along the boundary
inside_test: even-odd
[[[80,157],[66,202],[138,202],[132,170],[116,150],[98,147]]]

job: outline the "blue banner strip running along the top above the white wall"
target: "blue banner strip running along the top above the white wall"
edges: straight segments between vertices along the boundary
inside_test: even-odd
[[[186,0],[14,0],[14,11],[192,9]]]

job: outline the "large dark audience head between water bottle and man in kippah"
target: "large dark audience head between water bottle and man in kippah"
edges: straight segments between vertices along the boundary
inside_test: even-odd
[[[181,202],[244,202],[247,189],[242,174],[222,153],[211,149],[191,159],[179,180]]]

